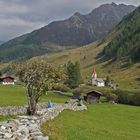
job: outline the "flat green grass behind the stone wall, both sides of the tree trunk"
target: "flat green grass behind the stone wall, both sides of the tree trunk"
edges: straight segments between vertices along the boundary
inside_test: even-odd
[[[48,93],[42,96],[40,102],[65,102],[68,97],[60,96],[54,93]],[[27,104],[26,92],[23,86],[3,86],[0,85],[0,106],[20,106]]]

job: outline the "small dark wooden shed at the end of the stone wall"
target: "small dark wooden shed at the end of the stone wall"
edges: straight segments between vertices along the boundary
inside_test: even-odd
[[[90,104],[91,103],[99,103],[100,97],[102,95],[103,94],[101,92],[96,91],[96,90],[88,91],[85,93],[84,100]]]

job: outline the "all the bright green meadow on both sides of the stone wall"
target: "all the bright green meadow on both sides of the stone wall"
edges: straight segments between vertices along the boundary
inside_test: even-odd
[[[67,97],[54,93],[44,95],[40,102],[65,102]],[[0,86],[0,106],[27,104],[22,86]],[[0,116],[5,121],[16,116]],[[65,110],[57,118],[42,125],[50,140],[139,140],[140,107],[119,104],[89,105],[85,111]]]

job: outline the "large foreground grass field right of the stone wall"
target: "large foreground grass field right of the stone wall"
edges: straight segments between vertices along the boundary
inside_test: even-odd
[[[50,140],[139,140],[140,108],[90,105],[87,111],[64,111],[42,126]]]

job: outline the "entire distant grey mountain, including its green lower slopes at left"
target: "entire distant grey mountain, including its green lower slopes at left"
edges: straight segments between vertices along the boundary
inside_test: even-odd
[[[66,20],[52,22],[3,44],[0,60],[30,58],[70,46],[89,44],[103,38],[134,9],[131,5],[112,3],[101,5],[87,15],[77,12]]]

